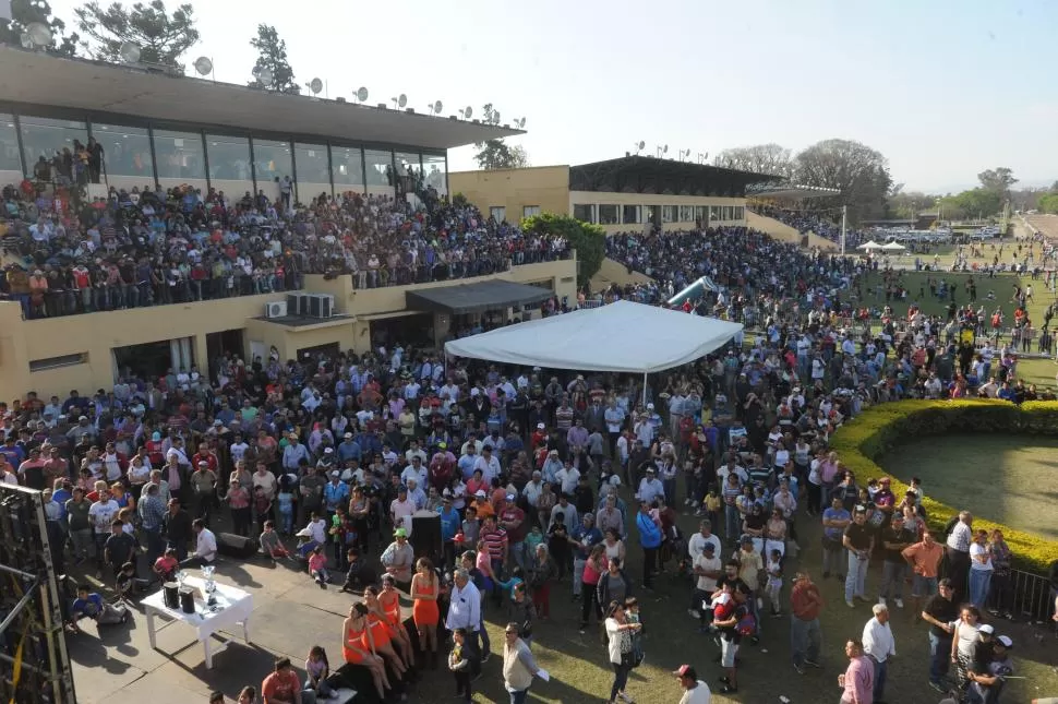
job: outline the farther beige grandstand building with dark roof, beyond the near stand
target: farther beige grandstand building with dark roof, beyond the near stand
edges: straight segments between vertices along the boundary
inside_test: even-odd
[[[772,176],[626,155],[579,166],[449,174],[453,193],[497,220],[557,213],[608,234],[746,225],[746,188]]]

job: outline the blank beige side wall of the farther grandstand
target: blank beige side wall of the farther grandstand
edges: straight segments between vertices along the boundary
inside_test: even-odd
[[[466,195],[486,216],[490,207],[505,207],[508,223],[520,222],[527,205],[539,206],[541,213],[569,214],[568,166],[454,171],[448,189]]]

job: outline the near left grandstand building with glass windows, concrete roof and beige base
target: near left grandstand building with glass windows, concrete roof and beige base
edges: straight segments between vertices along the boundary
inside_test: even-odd
[[[34,165],[74,140],[100,142],[103,182],[131,189],[189,184],[230,198],[321,193],[413,199],[411,170],[441,195],[449,189],[447,150],[517,134],[480,124],[334,99],[270,94],[95,61],[0,47],[0,186],[17,184]],[[4,253],[3,264],[12,262]],[[575,258],[512,265],[488,276],[378,288],[348,275],[305,275],[303,289],[216,300],[26,320],[17,301],[0,301],[0,398],[65,397],[110,389],[119,368],[143,374],[199,366],[225,351],[267,359],[312,350],[366,351],[373,333],[396,330],[444,339],[460,317],[509,315],[542,298],[575,298]],[[314,296],[312,299],[300,295]],[[312,302],[315,301],[315,302]],[[302,312],[304,307],[304,312]],[[286,310],[285,310],[286,309]]]

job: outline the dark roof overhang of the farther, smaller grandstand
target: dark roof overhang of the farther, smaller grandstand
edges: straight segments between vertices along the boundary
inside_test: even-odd
[[[671,193],[742,198],[752,183],[774,176],[738,171],[708,164],[690,164],[652,156],[625,156],[569,167],[570,191]]]

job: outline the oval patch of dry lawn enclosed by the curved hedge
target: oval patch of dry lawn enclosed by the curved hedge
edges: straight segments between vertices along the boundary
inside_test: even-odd
[[[1049,438],[949,435],[901,445],[881,466],[903,480],[922,477],[930,496],[950,506],[1056,540],[1056,451],[1058,440]]]

